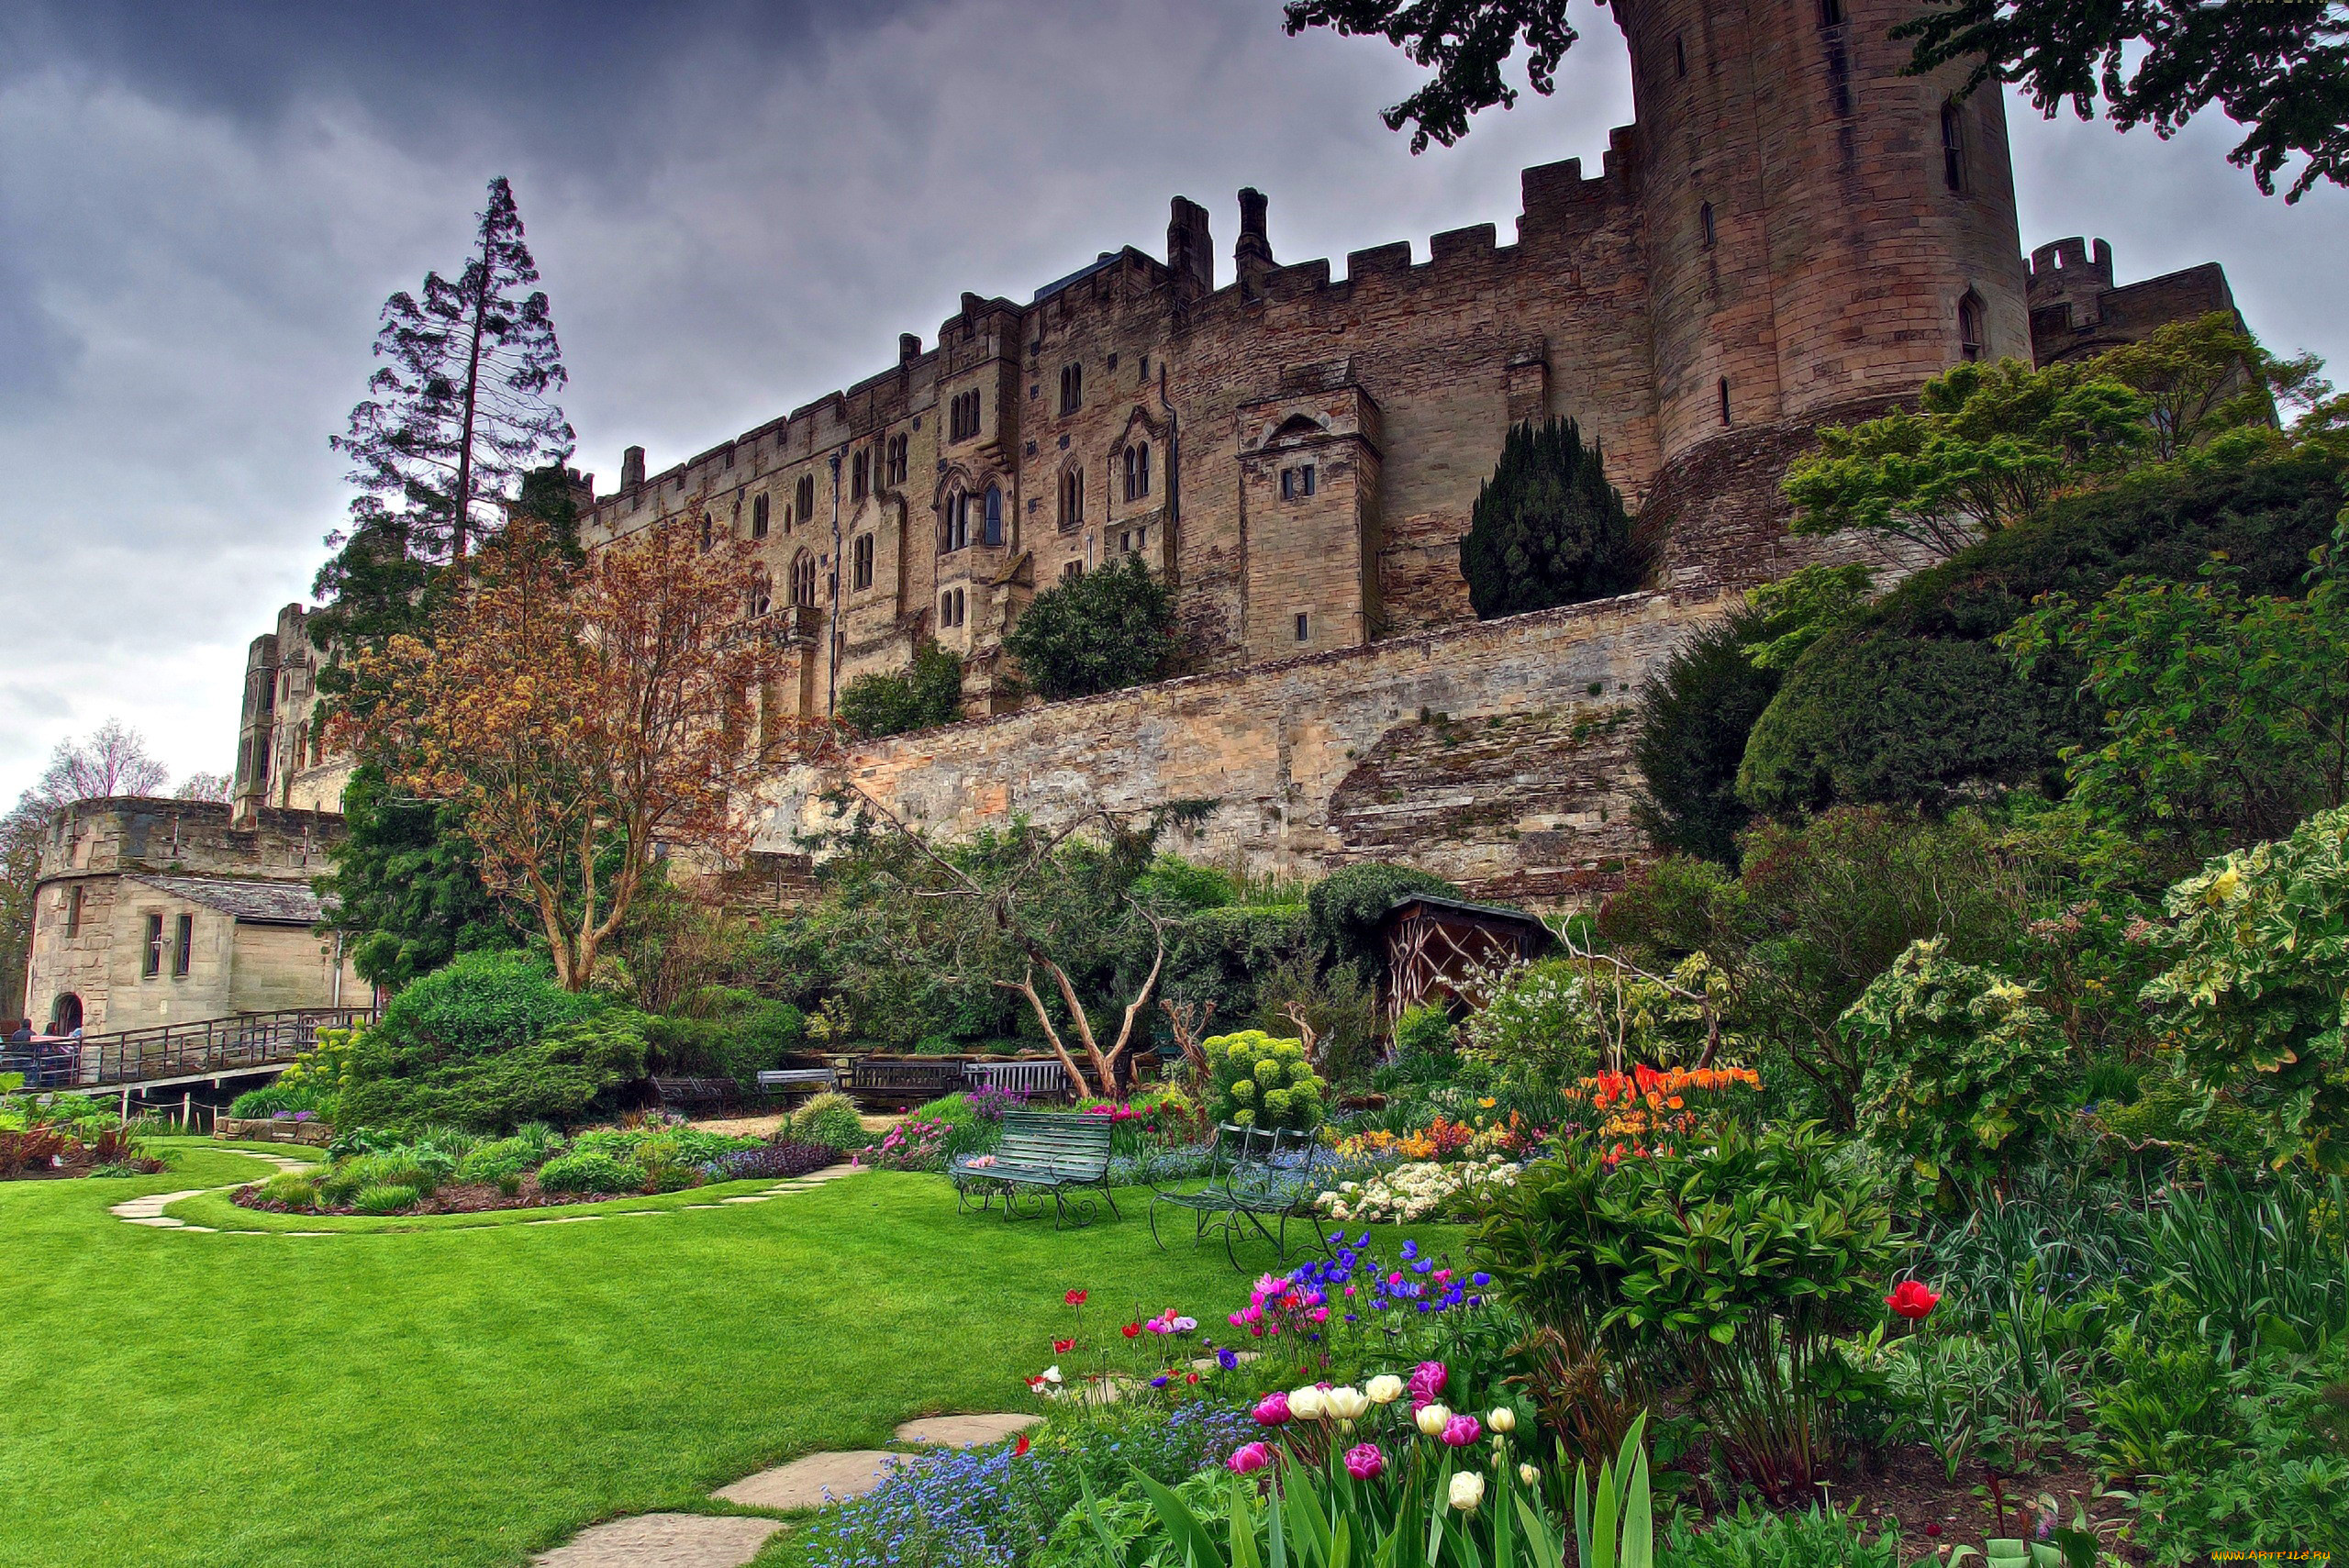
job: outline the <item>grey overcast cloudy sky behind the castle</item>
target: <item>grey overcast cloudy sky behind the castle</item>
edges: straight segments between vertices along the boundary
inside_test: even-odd
[[[507,174],[611,488],[1024,300],[1165,249],[1167,197],[1271,195],[1283,261],[1517,211],[1517,169],[1630,117],[1579,7],[1555,99],[1412,157],[1377,40],[1276,0],[9,0],[0,12],[0,803],[120,716],[228,770],[244,646],[303,599],[350,500],[327,437],[383,298],[463,265]],[[2114,242],[2123,282],[2220,261],[2276,350],[2349,366],[2349,192],[2297,207],[2178,141],[2011,106],[2025,246]]]

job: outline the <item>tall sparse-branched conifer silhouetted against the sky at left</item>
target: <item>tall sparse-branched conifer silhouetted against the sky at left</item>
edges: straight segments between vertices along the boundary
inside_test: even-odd
[[[474,254],[451,282],[428,272],[420,293],[383,305],[366,401],[334,448],[352,460],[350,528],[319,570],[329,599],[319,634],[378,641],[420,622],[432,568],[463,561],[496,533],[500,507],[531,469],[571,455],[571,425],[552,401],[568,380],[547,296],[529,291],[538,263],[505,178],[489,183]]]

